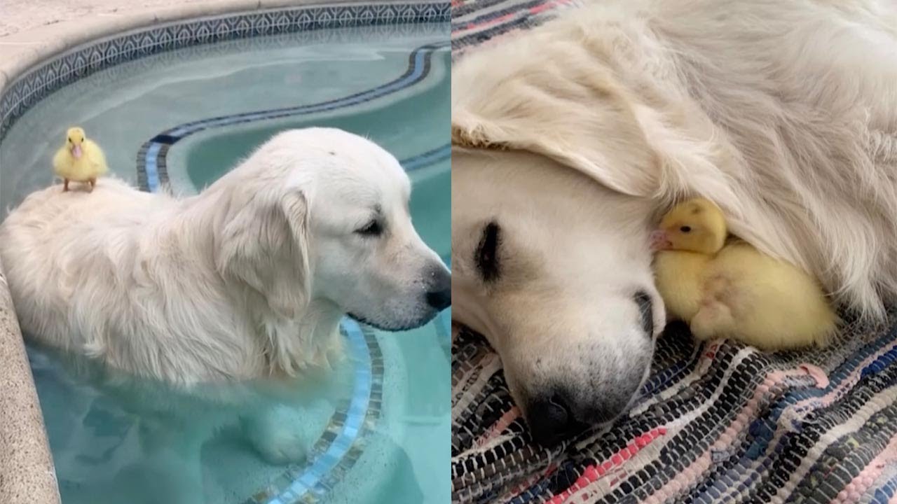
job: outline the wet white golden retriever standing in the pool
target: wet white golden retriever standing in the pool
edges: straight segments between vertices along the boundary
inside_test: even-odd
[[[109,178],[90,194],[40,190],[0,225],[0,259],[39,343],[200,396],[210,383],[289,382],[338,351],[345,314],[404,330],[450,304],[410,190],[375,143],[292,130],[198,196]],[[275,413],[246,419],[250,438],[268,460],[299,458]]]

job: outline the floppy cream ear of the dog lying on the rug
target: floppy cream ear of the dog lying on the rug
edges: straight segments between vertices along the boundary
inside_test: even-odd
[[[658,156],[627,97],[600,72],[560,70],[515,75],[492,93],[461,97],[453,103],[452,142],[536,152],[614,191],[653,196]]]

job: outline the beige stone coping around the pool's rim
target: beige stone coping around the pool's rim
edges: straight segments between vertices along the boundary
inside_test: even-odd
[[[91,40],[155,24],[228,13],[251,13],[315,4],[370,4],[359,0],[207,0],[166,8],[117,13],[43,25],[0,39],[0,97],[33,67]],[[378,0],[403,4],[405,0]],[[425,2],[422,2],[425,3]],[[50,454],[37,390],[13,301],[0,264],[0,502],[58,504],[56,470]]]

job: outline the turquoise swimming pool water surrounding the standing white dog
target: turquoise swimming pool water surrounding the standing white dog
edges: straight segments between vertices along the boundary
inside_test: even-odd
[[[105,149],[118,177],[180,193],[220,177],[276,131],[336,126],[369,136],[403,162],[415,226],[448,262],[446,39],[441,22],[303,30],[93,72],[39,100],[4,132],[0,204],[48,185],[49,156],[74,124]],[[179,485],[199,485],[205,501],[236,504],[448,500],[448,321],[445,312],[420,329],[387,334],[346,320],[340,386],[310,394],[308,416],[296,419],[312,447],[306,462],[267,465],[239,432],[225,429],[201,447],[198,468],[178,455],[180,474],[144,463],[153,448],[144,433],[155,419],[135,413],[133,397],[30,347],[63,501],[157,502]]]

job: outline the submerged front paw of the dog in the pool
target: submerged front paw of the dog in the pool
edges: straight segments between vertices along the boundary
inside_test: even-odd
[[[305,460],[306,441],[295,414],[277,407],[243,419],[249,442],[269,464],[287,465]]]

